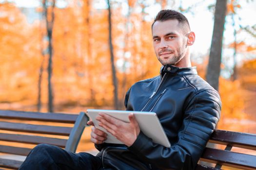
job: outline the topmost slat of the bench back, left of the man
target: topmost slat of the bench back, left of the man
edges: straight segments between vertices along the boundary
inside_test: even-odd
[[[61,123],[75,123],[78,115],[64,113],[39,113],[13,110],[0,110],[0,119],[23,119],[37,121],[51,121]]]

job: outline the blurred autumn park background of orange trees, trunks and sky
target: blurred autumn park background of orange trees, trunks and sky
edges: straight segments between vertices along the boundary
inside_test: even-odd
[[[0,0],[0,109],[125,109],[128,88],[159,74],[161,9],[196,34],[191,59],[220,93],[218,128],[256,134],[255,0]],[[79,151],[93,149],[89,135]]]

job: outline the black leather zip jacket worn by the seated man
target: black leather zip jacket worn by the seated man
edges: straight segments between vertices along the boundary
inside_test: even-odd
[[[105,169],[193,170],[219,120],[218,92],[197,75],[195,67],[166,65],[160,76],[142,80],[125,96],[127,110],[157,113],[171,148],[140,132],[130,147],[96,145]]]

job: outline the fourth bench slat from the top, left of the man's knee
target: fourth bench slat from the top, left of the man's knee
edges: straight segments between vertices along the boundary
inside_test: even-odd
[[[0,152],[1,153],[10,153],[10,154],[18,154],[26,156],[32,149],[30,148],[20,148],[14,146],[4,146],[0,145]]]

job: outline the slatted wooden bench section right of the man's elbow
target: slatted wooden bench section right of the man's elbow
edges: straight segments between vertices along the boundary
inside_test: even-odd
[[[206,147],[200,161],[216,165],[214,167],[197,165],[197,170],[221,170],[222,166],[239,170],[256,170],[255,134],[215,130],[209,142],[224,145],[225,149]],[[235,149],[233,147],[241,148],[239,153],[232,151],[231,149]],[[253,152],[254,155],[248,154],[246,151]]]

